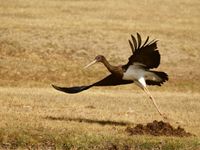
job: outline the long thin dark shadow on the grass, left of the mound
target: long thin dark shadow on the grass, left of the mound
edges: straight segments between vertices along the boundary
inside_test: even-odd
[[[59,120],[59,121],[84,122],[84,123],[99,124],[99,125],[114,125],[114,126],[133,125],[133,123],[125,122],[125,121],[97,120],[97,119],[87,119],[87,118],[46,116],[44,119],[47,119],[47,120]]]

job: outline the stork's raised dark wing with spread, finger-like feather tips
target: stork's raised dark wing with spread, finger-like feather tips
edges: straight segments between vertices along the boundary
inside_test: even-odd
[[[125,67],[133,65],[134,63],[140,63],[145,68],[157,68],[160,64],[160,54],[157,50],[157,40],[149,41],[149,36],[142,44],[142,39],[139,33],[137,33],[137,39],[131,35],[132,42],[129,40],[129,44],[133,55],[129,57],[128,63]]]

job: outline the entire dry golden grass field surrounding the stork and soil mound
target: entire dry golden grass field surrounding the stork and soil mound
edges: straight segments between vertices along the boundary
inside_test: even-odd
[[[200,149],[200,2],[198,0],[0,0],[1,149]],[[131,55],[130,34],[159,40],[159,70],[150,87],[173,126],[194,137],[129,136],[125,129],[162,120],[135,85],[68,95],[51,84],[95,82],[103,65]]]

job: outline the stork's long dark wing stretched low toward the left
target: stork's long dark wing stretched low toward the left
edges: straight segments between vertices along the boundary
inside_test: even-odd
[[[115,86],[115,85],[129,84],[129,83],[133,83],[133,81],[122,80],[122,79],[117,78],[113,74],[110,74],[104,79],[88,86],[74,86],[74,87],[59,87],[56,85],[52,85],[52,86],[56,90],[59,90],[65,93],[75,94],[75,93],[79,93],[81,91],[87,90],[93,86]]]

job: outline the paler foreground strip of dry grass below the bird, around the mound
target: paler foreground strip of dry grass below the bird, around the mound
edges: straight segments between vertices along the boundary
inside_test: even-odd
[[[162,118],[145,95],[126,90],[91,90],[66,95],[47,88],[1,88],[3,148],[198,149],[200,94],[154,92],[159,106],[196,137],[129,136],[127,126]],[[173,101],[169,101],[173,100]]]

